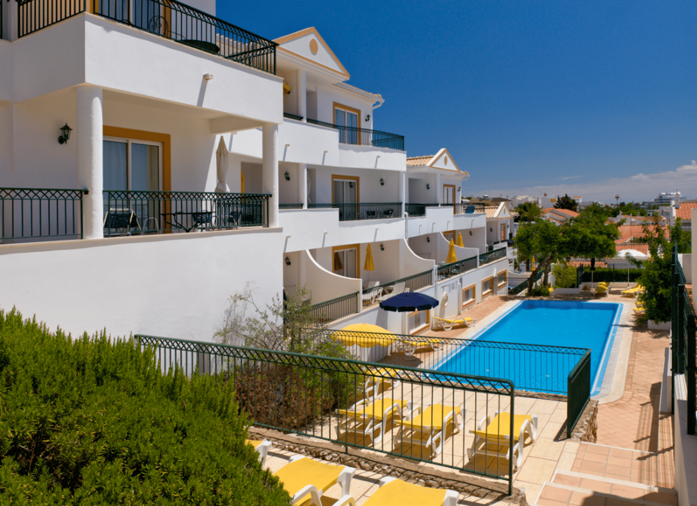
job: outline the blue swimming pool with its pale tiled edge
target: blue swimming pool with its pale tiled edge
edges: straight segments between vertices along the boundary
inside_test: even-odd
[[[528,305],[528,307],[521,308],[523,304]],[[555,353],[555,355],[559,358],[553,359],[545,367],[549,367],[550,364],[560,363],[560,359],[569,360],[568,353],[564,348],[569,350],[574,348],[575,350],[579,350],[580,348],[585,349],[587,347],[594,348],[594,352],[592,352],[593,355],[596,353],[595,350],[598,350],[597,353],[599,353],[599,355],[592,355],[592,362],[595,363],[593,364],[594,371],[591,383],[591,396],[593,396],[594,399],[600,400],[608,395],[615,397],[618,390],[624,390],[624,382],[622,381],[620,384],[614,380],[617,373],[620,372],[617,370],[618,366],[620,366],[621,369],[623,362],[626,362],[626,360],[622,360],[624,355],[627,354],[625,353],[625,349],[622,348],[622,344],[625,344],[627,341],[624,337],[627,328],[627,314],[629,313],[627,307],[625,307],[625,303],[604,300],[561,301],[535,299],[519,300],[518,302],[513,302],[505,306],[506,307],[502,307],[499,311],[491,314],[490,317],[486,319],[488,320],[486,325],[484,325],[483,328],[477,329],[477,332],[472,337],[469,337],[468,340],[479,342],[510,342],[514,346],[522,344],[523,346],[557,347],[558,353]],[[544,311],[542,314],[544,314],[545,318],[544,324],[536,325],[533,323],[532,326],[530,326],[530,317],[532,315],[525,315],[528,309],[533,309],[535,312],[542,309],[542,311]],[[577,311],[569,311],[571,309]],[[595,310],[602,311],[602,313],[598,313],[596,317],[594,314]],[[588,313],[589,311],[590,314]],[[612,313],[608,314],[608,312]],[[535,321],[535,317],[533,316],[532,318],[533,321]],[[569,321],[568,324],[565,323],[566,320]],[[585,321],[590,323],[585,325]],[[514,331],[511,330],[511,326],[515,329]],[[539,332],[537,332],[538,328]],[[559,328],[573,329],[573,332],[567,332],[564,336],[568,342],[557,344],[557,330]],[[586,328],[588,328],[588,333],[583,334]],[[532,335],[530,334],[531,330]],[[515,337],[512,339],[511,337],[513,335],[515,335]],[[486,336],[486,338],[482,339],[484,336]],[[583,339],[583,341],[581,341],[581,339]],[[581,346],[579,346],[579,342],[582,343]],[[458,355],[461,353],[466,353],[467,355],[476,353],[464,352],[464,349],[464,347],[460,347],[457,351],[449,353],[443,360],[438,360],[434,369],[450,370],[454,367],[452,371],[455,371],[458,367],[462,368],[464,362],[459,362],[459,365],[455,365],[457,364]],[[475,371],[474,369],[477,369],[477,367],[479,367],[478,365],[475,365],[473,368],[468,367],[468,369],[472,370],[457,370],[457,372],[507,378],[516,383],[516,390],[533,392],[546,391],[562,394],[566,392],[565,383],[568,371],[565,371],[565,369],[554,369],[554,367],[553,369],[546,369],[544,371],[542,369],[538,370],[537,364],[535,364],[537,359],[535,357],[527,357],[526,351],[516,351],[515,355],[520,356],[523,361],[533,360],[533,362],[528,362],[526,366],[530,369],[530,365],[532,365],[532,368],[537,370],[537,376],[533,374],[533,378],[536,377],[537,380],[533,382],[530,381],[529,371],[528,374],[525,372],[526,367],[511,369],[510,374],[507,374],[509,369],[505,366],[505,358],[500,358],[498,364],[496,363],[496,358],[493,358],[493,360],[490,359],[488,361],[489,365],[482,366],[491,367],[491,373]],[[565,357],[564,355],[567,356]],[[503,360],[503,362],[501,360]],[[562,360],[562,362],[564,360]],[[542,365],[544,366],[544,363],[542,363]],[[498,371],[496,369],[498,369]],[[506,372],[502,373],[501,369],[505,369]],[[489,371],[489,369],[486,369],[486,371]],[[549,374],[544,375],[545,372],[549,372]],[[620,373],[619,376],[621,378],[622,374]],[[551,386],[546,383],[548,381],[552,381]]]

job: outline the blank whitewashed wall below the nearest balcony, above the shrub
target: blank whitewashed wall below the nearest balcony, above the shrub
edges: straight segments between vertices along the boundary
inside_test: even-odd
[[[280,229],[176,233],[0,247],[0,307],[72,335],[104,328],[211,341],[248,282],[281,293]]]

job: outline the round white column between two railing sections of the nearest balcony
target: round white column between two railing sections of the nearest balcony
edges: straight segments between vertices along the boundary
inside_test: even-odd
[[[77,86],[77,185],[89,190],[82,199],[82,236],[104,237],[104,174],[102,171],[102,89]]]

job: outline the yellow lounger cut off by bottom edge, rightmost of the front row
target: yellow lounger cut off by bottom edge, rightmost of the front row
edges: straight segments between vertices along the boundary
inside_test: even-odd
[[[407,483],[392,476],[380,480],[380,488],[370,496],[363,506],[457,506],[459,494],[454,490],[430,489]],[[355,499],[342,496],[334,506],[355,506]]]

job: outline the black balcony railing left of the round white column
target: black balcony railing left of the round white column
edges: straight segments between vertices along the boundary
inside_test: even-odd
[[[82,238],[82,196],[87,190],[0,188],[0,239]]]

